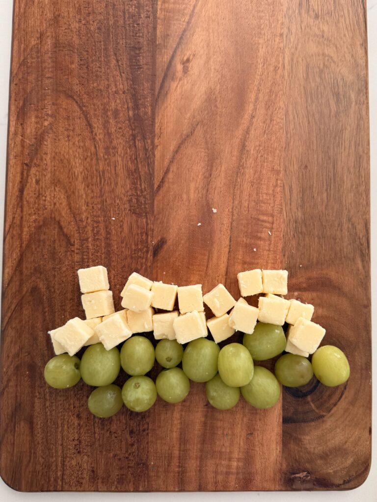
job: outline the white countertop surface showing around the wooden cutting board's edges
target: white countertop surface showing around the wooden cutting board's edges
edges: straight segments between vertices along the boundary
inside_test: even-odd
[[[27,0],[26,0],[27,1]],[[371,194],[377,193],[377,0],[368,0],[368,52],[369,52],[369,109],[370,109],[370,170],[371,170]],[[0,0],[0,256],[3,254],[3,221],[4,221],[4,195],[5,195],[5,172],[6,172],[6,142],[8,128],[8,96],[9,96],[9,69],[11,55],[11,31],[12,31],[12,7],[13,0]],[[257,498],[261,502],[286,500],[295,502],[321,501],[321,502],[375,502],[377,500],[377,305],[374,301],[377,295],[377,201],[371,197],[371,262],[372,262],[372,357],[373,357],[373,441],[372,441],[372,467],[370,474],[363,485],[351,491],[338,492],[236,492],[236,493],[201,493],[200,500],[208,502],[229,500],[244,502],[251,498]],[[1,271],[0,271],[1,274]],[[374,340],[373,340],[374,339]],[[48,454],[48,452],[46,452]],[[138,501],[149,502],[191,502],[198,498],[195,493],[21,493],[9,488],[0,479],[0,501],[25,501],[35,500],[73,502],[89,500],[96,502],[103,499],[110,502]]]

